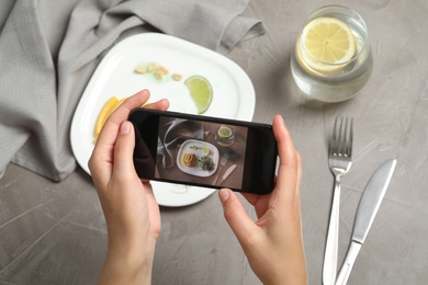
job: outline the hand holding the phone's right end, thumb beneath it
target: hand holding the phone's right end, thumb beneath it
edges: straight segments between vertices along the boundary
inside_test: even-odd
[[[255,223],[234,192],[218,192],[224,215],[249,264],[263,284],[307,284],[301,228],[301,157],[281,116],[273,119],[280,167],[268,195],[243,194],[255,206]]]

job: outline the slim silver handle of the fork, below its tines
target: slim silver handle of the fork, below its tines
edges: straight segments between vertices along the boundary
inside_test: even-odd
[[[337,274],[337,252],[339,241],[340,176],[335,178],[331,214],[328,225],[326,250],[324,252],[323,284],[334,285]]]

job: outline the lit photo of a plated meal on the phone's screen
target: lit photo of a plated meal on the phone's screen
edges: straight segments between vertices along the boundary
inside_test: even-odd
[[[159,117],[156,179],[241,189],[247,127]]]

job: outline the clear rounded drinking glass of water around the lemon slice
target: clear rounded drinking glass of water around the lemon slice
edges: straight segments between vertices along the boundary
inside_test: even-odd
[[[314,26],[314,21],[317,21],[326,22],[325,29],[328,29],[328,22],[338,23],[336,20],[349,32],[349,43],[352,45],[349,45],[348,58],[343,56],[342,61],[320,59],[319,54],[312,52],[314,48],[309,46],[311,41],[307,41],[308,27]],[[293,79],[305,94],[322,102],[351,99],[365,86],[372,68],[368,29],[356,11],[342,5],[328,5],[307,16],[291,57]]]

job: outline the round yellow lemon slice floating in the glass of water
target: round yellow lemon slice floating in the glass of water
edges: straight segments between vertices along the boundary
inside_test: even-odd
[[[318,72],[341,70],[356,54],[356,38],[349,25],[335,18],[317,18],[303,29],[304,45],[299,59]],[[299,50],[300,48],[297,48]]]

